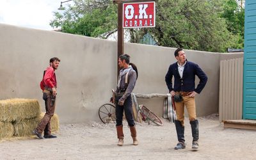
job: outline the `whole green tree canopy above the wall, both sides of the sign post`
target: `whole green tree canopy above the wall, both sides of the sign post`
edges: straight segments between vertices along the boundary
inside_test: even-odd
[[[223,13],[227,0],[156,0],[156,28],[127,29],[131,42],[150,33],[158,45],[225,52],[238,35],[228,30]],[[107,38],[116,31],[117,6],[112,0],[74,0],[63,14],[54,13],[53,28],[65,33]],[[235,29],[236,30],[236,29]]]

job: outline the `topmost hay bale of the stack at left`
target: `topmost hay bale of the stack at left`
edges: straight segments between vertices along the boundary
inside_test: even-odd
[[[0,100],[0,121],[18,122],[40,115],[40,105],[36,99]]]

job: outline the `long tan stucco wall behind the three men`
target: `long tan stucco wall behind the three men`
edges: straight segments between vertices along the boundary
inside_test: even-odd
[[[116,84],[116,42],[55,31],[19,28],[0,24],[0,99],[38,99],[44,111],[39,83],[49,59],[61,59],[56,70],[58,100],[56,113],[61,123],[99,120],[99,107],[108,102]],[[152,45],[125,44],[124,51],[139,70],[134,93],[167,93],[164,76],[175,62],[175,49]],[[209,77],[196,97],[198,116],[218,112],[220,60],[233,54],[186,51]],[[243,54],[236,54],[235,57]],[[163,99],[139,103],[161,115]]]

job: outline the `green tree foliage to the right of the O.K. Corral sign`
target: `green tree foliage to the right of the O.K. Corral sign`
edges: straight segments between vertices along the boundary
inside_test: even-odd
[[[156,28],[159,45],[199,51],[225,52],[236,42],[221,18],[220,1],[159,0]]]

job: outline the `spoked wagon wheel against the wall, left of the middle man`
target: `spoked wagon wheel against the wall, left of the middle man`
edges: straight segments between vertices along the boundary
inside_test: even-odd
[[[104,124],[108,124],[109,122],[115,122],[116,115],[115,115],[115,106],[113,104],[103,104],[99,108],[99,117],[100,120]]]

